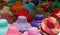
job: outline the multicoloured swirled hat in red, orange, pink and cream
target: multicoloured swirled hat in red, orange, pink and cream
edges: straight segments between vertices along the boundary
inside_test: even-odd
[[[43,31],[45,31],[50,35],[55,35],[58,33],[58,30],[56,28],[57,25],[58,25],[58,22],[54,17],[46,18],[41,23]]]

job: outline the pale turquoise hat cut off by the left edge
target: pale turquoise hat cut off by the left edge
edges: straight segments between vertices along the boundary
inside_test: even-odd
[[[6,19],[0,19],[0,35],[5,35],[9,27],[10,24]]]

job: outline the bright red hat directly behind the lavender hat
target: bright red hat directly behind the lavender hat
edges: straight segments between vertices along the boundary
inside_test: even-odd
[[[25,8],[14,14],[14,17],[17,18],[18,16],[26,16],[29,22],[32,20],[32,17],[29,15],[29,11]]]

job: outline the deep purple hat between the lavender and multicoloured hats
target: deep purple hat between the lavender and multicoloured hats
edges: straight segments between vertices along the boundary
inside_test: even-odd
[[[31,21],[31,25],[33,26],[33,27],[37,27],[37,28],[39,28],[39,25],[40,25],[40,23],[41,23],[41,21],[44,19],[44,15],[42,15],[42,14],[37,14],[36,16],[35,16],[35,19],[33,20],[33,21]]]

